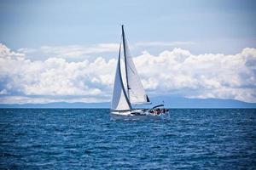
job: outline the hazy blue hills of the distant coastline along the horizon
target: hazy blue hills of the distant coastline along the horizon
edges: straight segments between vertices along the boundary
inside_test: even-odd
[[[235,99],[186,99],[172,97],[154,97],[152,103],[157,104],[164,101],[168,108],[196,108],[196,109],[229,109],[229,108],[248,108],[256,109],[256,103],[247,103]],[[153,105],[142,105],[143,108],[148,108]],[[109,109],[110,102],[102,103],[67,103],[54,102],[47,104],[0,104],[0,108],[105,108]]]

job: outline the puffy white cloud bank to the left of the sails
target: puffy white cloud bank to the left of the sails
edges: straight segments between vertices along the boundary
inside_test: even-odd
[[[17,57],[10,58],[9,55]],[[104,100],[104,96],[110,95],[108,92],[112,88],[112,68],[116,63],[114,59],[106,61],[99,57],[93,62],[86,59],[67,62],[66,59],[49,58],[32,61],[20,58],[19,55],[9,51],[9,54],[5,53],[5,57],[0,58],[1,86],[10,94],[75,95],[79,96],[78,98],[101,96],[99,100]],[[15,99],[20,101],[17,97]]]

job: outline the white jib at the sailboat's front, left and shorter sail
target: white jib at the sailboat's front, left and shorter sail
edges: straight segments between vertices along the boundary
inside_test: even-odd
[[[111,110],[114,110],[114,111],[131,110],[131,104],[125,93],[124,83],[121,77],[120,48],[119,48],[119,59],[116,66],[116,73],[115,73],[114,84],[113,84]]]

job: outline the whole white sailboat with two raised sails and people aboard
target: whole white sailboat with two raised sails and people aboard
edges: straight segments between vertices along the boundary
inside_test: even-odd
[[[123,50],[122,50],[123,49]],[[122,53],[123,51],[123,53]],[[121,55],[124,56],[125,72],[122,74]],[[124,76],[125,75],[125,76]],[[151,104],[146,94],[137,69],[131,58],[130,50],[125,39],[124,26],[122,25],[122,38],[119,45],[119,57],[116,66],[113,84],[113,97],[111,102],[111,115],[114,116],[162,116],[168,110],[157,105],[152,109],[134,109],[133,105]]]

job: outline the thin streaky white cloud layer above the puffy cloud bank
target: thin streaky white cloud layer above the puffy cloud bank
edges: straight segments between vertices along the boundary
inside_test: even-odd
[[[166,47],[183,47],[193,45],[195,42],[136,42],[131,44],[131,48],[139,50],[144,47],[151,48],[166,48]],[[17,50],[20,54],[26,54],[27,59],[48,59],[48,58],[62,58],[62,59],[94,59],[99,55],[104,57],[109,54],[118,53],[119,43],[97,43],[92,45],[66,45],[66,46],[42,46],[40,48],[20,48]]]

